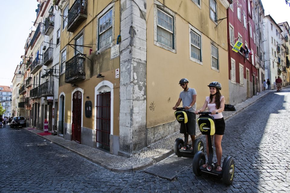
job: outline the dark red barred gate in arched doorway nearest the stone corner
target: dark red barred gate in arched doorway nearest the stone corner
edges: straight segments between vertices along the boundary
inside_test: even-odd
[[[97,95],[97,143],[98,147],[110,150],[111,92]]]

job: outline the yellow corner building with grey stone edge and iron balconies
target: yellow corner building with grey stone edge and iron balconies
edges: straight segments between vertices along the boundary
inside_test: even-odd
[[[229,101],[227,0],[58,0],[58,133],[131,156],[179,130],[171,110],[189,79],[197,108],[211,81]]]

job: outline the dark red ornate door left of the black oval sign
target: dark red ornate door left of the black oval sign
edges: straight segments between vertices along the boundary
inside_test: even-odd
[[[72,140],[81,143],[82,93],[72,95]]]

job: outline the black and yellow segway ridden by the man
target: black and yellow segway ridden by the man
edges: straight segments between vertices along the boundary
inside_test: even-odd
[[[174,115],[179,123],[187,123],[187,115],[185,109],[182,107],[176,108]],[[187,125],[185,124],[186,131],[188,131]],[[188,136],[185,137],[184,141],[182,138],[177,138],[174,144],[174,153],[177,157],[193,157],[198,151],[204,151],[204,145],[201,139],[195,139],[193,150],[190,150],[190,145],[187,144]],[[185,147],[181,149],[181,147]]]

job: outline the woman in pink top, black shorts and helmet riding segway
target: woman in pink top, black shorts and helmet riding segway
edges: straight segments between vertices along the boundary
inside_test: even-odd
[[[208,111],[211,112],[211,115],[215,120],[215,134],[214,134],[214,146],[217,154],[217,169],[216,171],[221,171],[221,157],[222,157],[222,148],[221,148],[221,139],[223,138],[225,122],[224,117],[221,112],[224,111],[224,96],[221,95],[221,84],[219,82],[211,82],[209,85],[210,96],[206,96],[205,104],[201,109],[195,111],[197,115],[198,112],[205,111],[208,108]],[[216,114],[218,112],[218,114]],[[213,136],[212,136],[213,138]],[[208,138],[206,137],[206,152],[208,152]],[[206,168],[207,163],[202,167]]]

